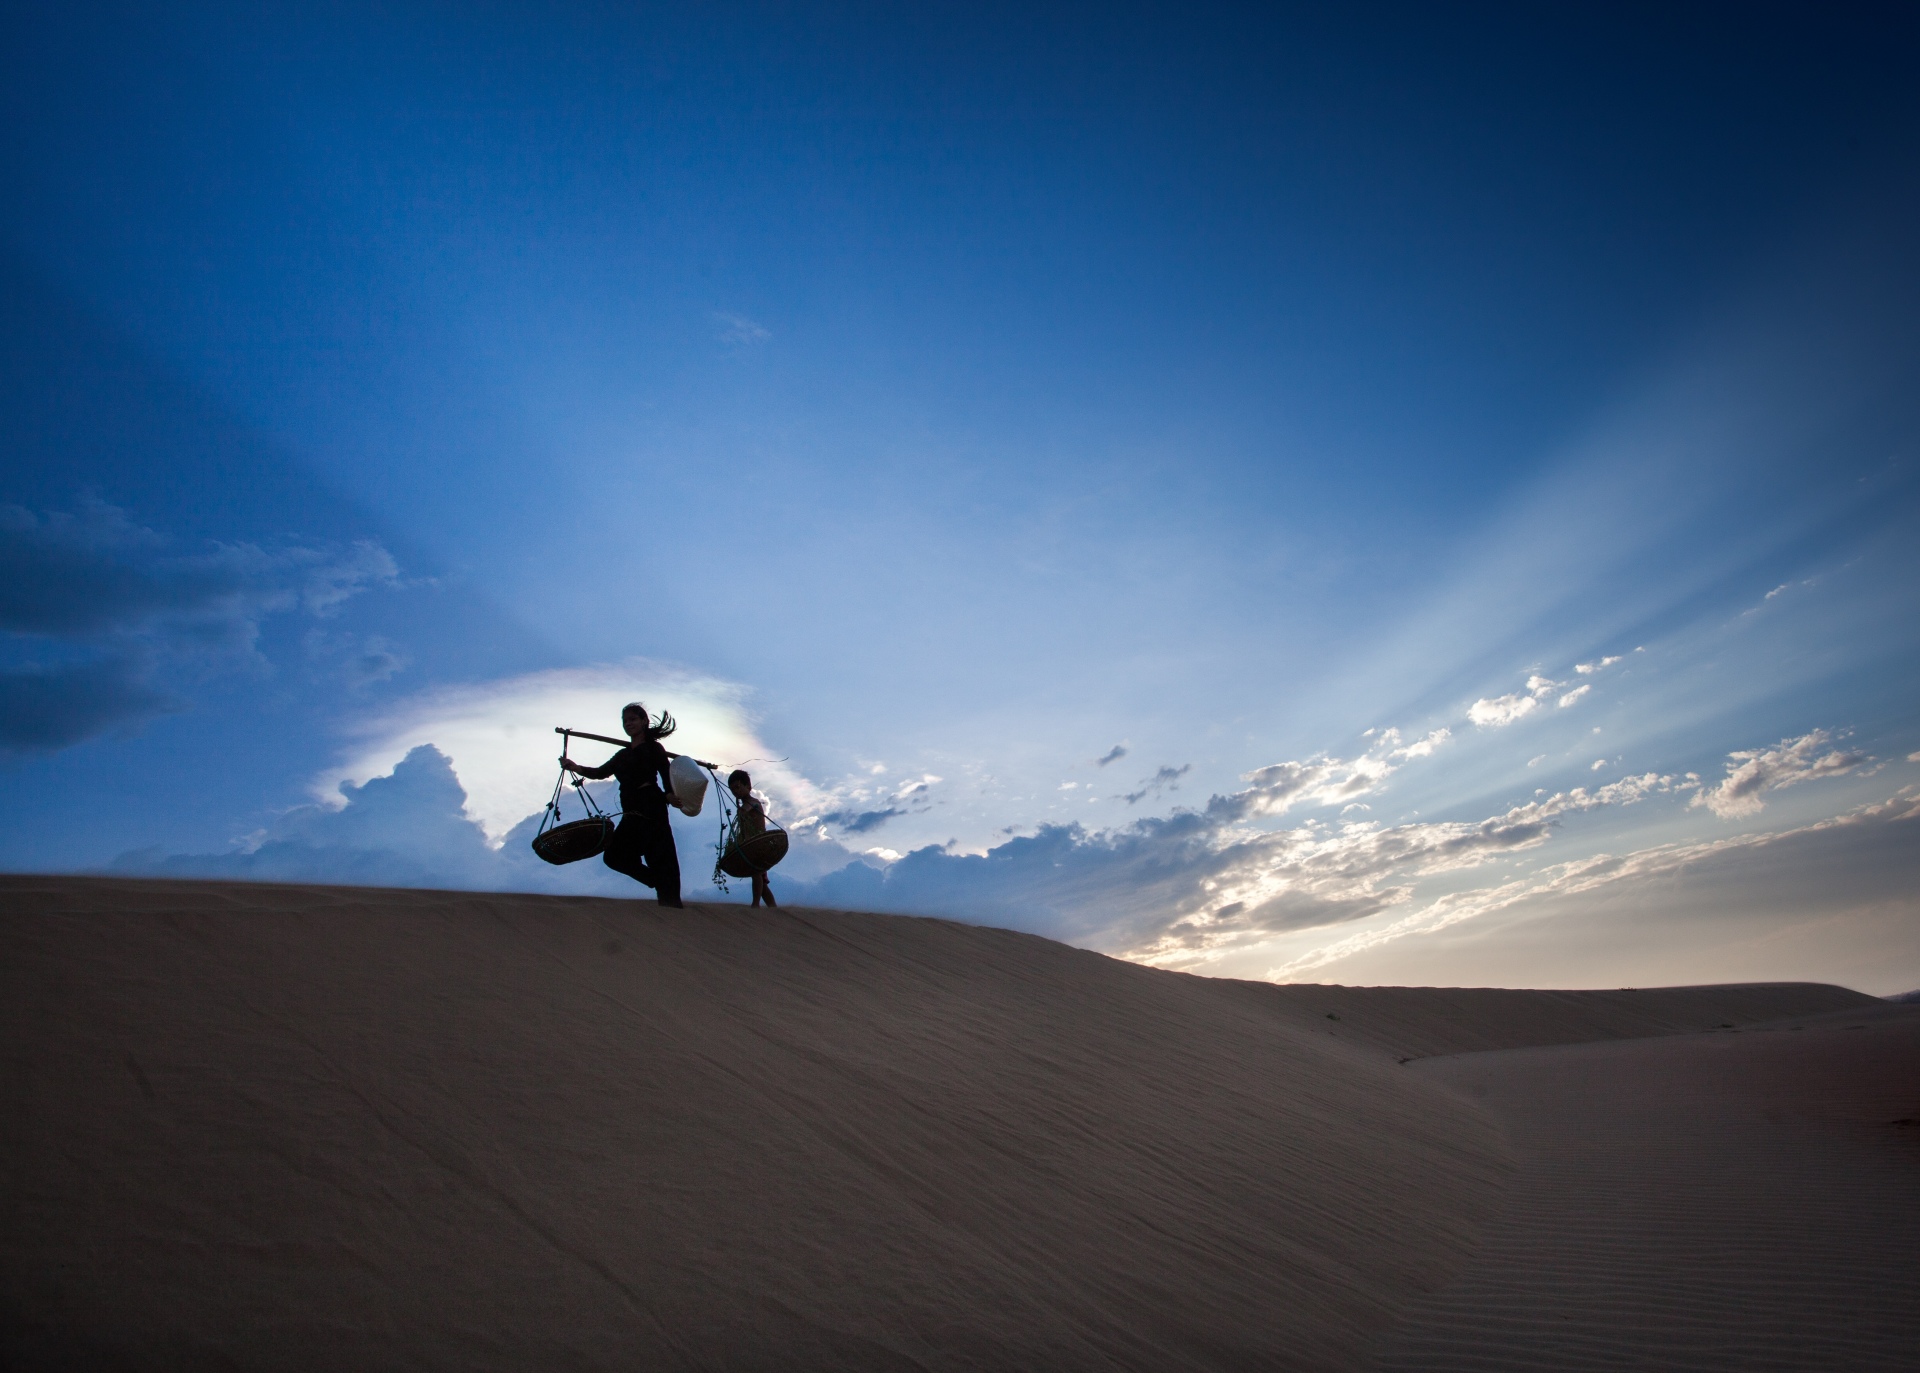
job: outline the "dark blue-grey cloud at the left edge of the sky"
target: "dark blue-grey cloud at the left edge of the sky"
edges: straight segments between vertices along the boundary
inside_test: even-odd
[[[44,515],[0,505],[0,636],[15,664],[0,680],[0,747],[63,749],[184,709],[159,686],[169,672],[263,670],[261,620],[332,616],[396,576],[369,542],[182,551],[104,501]]]

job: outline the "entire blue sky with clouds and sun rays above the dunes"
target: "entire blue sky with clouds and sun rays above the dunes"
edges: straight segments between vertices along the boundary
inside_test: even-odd
[[[0,868],[1920,987],[1910,13],[296,10],[0,19]]]

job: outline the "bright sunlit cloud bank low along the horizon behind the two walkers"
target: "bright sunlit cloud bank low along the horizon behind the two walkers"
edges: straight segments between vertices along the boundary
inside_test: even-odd
[[[1511,699],[1551,699],[1565,684],[1534,674],[1526,687]],[[743,695],[737,686],[647,661],[424,693],[363,728],[353,760],[330,774],[332,795],[317,795],[315,805],[232,853],[123,855],[115,868],[643,895],[599,864],[557,870],[526,851],[553,783],[553,724],[605,730],[628,699],[670,699],[682,718],[676,743],[730,766],[772,753],[756,737]],[[755,762],[753,772],[793,835],[793,856],[776,878],[789,903],[1000,924],[1194,972],[1217,970],[1223,960],[1242,966],[1275,941],[1290,941],[1296,952],[1267,972],[1292,979],[1528,903],[1653,879],[1722,849],[1768,841],[1740,835],[1655,845],[1513,872],[1517,858],[1542,851],[1576,816],[1686,797],[1688,807],[1668,805],[1668,822],[1688,808],[1747,818],[1770,791],[1839,778],[1868,762],[1860,751],[1836,747],[1826,730],[1811,730],[1730,753],[1726,776],[1713,785],[1692,772],[1649,770],[1605,785],[1540,789],[1530,801],[1476,816],[1380,824],[1344,816],[1365,812],[1367,799],[1402,770],[1430,766],[1453,734],[1436,728],[1409,741],[1398,730],[1369,730],[1367,737],[1365,751],[1352,757],[1254,768],[1242,774],[1244,785],[1198,807],[1112,828],[1043,824],[979,853],[954,843],[904,855],[849,847],[935,805],[943,783],[935,774],[881,783],[885,766],[876,762],[843,785],[820,785],[778,760]],[[607,751],[591,745],[595,759]],[[1135,795],[1175,785],[1187,772],[1164,766]],[[1907,820],[1912,810],[1860,816],[1860,824],[1878,824]],[[705,878],[710,839],[695,828],[703,824],[678,826],[689,893]],[[1313,943],[1302,949],[1302,939]]]

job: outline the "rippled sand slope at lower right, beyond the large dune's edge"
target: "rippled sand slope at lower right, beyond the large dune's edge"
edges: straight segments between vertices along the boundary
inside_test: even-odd
[[[1920,1006],[1409,1072],[1494,1110],[1521,1169],[1380,1367],[1920,1367]]]

